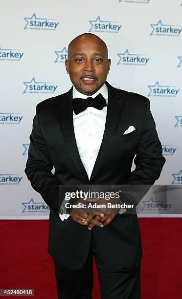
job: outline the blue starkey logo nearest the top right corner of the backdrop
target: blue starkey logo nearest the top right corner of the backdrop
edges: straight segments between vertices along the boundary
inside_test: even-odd
[[[152,31],[150,36],[152,35],[160,35],[160,36],[180,36],[182,33],[182,27],[179,25],[171,25],[171,24],[163,24],[161,20],[159,20],[156,24],[150,24],[152,27]]]

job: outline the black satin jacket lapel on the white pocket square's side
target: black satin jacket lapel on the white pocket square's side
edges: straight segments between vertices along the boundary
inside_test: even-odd
[[[121,114],[124,108],[126,96],[121,90],[118,92],[116,88],[111,86],[106,82],[108,87],[108,107],[107,107],[107,116],[106,116],[106,125],[104,130],[104,135],[102,139],[102,143],[95,161],[95,165],[93,167],[91,178],[89,184],[93,180],[96,173],[99,171],[102,161],[104,160],[107,151],[113,141],[115,131],[119,124]]]

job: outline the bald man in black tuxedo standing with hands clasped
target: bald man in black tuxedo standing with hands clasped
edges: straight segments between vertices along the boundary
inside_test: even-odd
[[[93,256],[102,299],[140,298],[137,215],[68,214],[59,196],[60,185],[152,185],[159,178],[165,159],[149,100],[111,86],[110,65],[99,37],[76,37],[66,60],[73,86],[39,103],[33,120],[25,173],[50,207],[48,253],[59,299],[91,299]]]

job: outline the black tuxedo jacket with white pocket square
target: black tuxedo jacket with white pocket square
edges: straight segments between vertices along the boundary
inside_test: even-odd
[[[152,185],[165,162],[149,100],[106,84],[109,98],[105,131],[90,180],[74,136],[72,88],[37,105],[30,135],[25,173],[50,207],[48,253],[72,269],[86,261],[91,231],[71,217],[64,221],[59,218],[59,185]],[[136,130],[123,135],[129,126]],[[136,169],[131,172],[133,159]],[[112,269],[129,267],[142,256],[136,214],[117,214],[111,224],[95,226],[92,233],[102,259]]]

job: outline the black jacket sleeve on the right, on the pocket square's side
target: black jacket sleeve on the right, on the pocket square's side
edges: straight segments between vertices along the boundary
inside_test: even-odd
[[[155,121],[150,111],[149,99],[147,99],[146,103],[145,116],[134,163],[136,169],[126,179],[125,183],[130,186],[124,188],[127,195],[123,197],[125,202],[129,200],[130,203],[134,203],[136,206],[159,178],[165,163]]]

